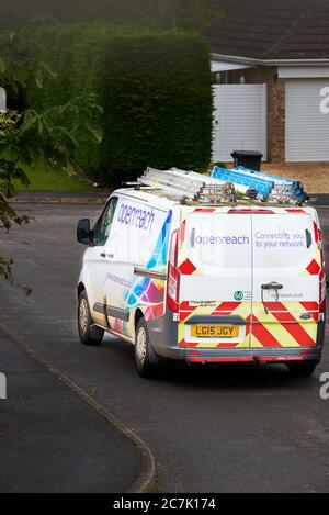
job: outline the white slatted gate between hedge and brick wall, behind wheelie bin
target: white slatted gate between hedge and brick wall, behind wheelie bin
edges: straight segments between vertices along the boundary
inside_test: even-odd
[[[266,85],[214,86],[213,160],[232,161],[234,150],[258,150],[266,159]]]

